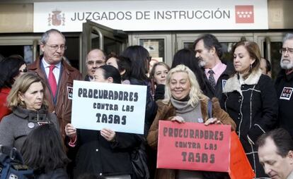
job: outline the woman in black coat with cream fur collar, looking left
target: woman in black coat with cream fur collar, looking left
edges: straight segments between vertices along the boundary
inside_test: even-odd
[[[256,178],[268,178],[258,162],[255,141],[277,125],[277,94],[272,80],[260,70],[260,49],[255,42],[233,47],[236,73],[227,80],[222,106],[235,121],[236,132]]]

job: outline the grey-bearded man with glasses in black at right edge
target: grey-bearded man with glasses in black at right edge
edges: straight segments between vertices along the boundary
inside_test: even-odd
[[[279,102],[280,127],[285,128],[293,137],[293,34],[288,33],[280,49],[282,70],[277,75],[275,87]]]

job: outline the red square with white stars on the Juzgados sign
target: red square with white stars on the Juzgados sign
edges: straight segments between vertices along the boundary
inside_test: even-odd
[[[236,23],[254,23],[253,6],[235,6]]]

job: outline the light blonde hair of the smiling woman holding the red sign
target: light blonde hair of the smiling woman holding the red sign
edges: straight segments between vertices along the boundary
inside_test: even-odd
[[[197,82],[197,79],[195,77],[195,74],[193,73],[192,70],[190,70],[187,66],[185,65],[178,65],[175,68],[172,68],[166,78],[166,86],[165,86],[165,98],[163,99],[164,104],[170,104],[171,101],[171,89],[170,89],[170,82],[171,78],[174,73],[186,73],[188,75],[188,81],[190,82],[190,92],[189,92],[189,100],[188,104],[191,106],[195,106],[198,104],[198,102],[202,99],[207,99],[207,97],[202,94],[202,90],[200,90],[200,85]]]

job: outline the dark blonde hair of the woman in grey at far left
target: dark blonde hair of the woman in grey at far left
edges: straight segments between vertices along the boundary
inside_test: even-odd
[[[7,97],[7,106],[10,109],[16,108],[16,106],[21,106],[23,108],[26,108],[25,103],[19,99],[18,94],[25,93],[30,85],[32,85],[34,82],[41,82],[42,87],[44,88],[44,92],[46,89],[45,82],[43,82],[42,78],[36,73],[25,73],[18,77],[16,81],[14,82],[11,91],[8,94]],[[42,105],[47,108],[47,100],[42,100]]]

